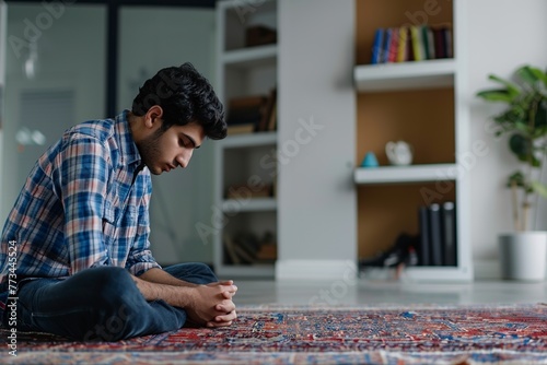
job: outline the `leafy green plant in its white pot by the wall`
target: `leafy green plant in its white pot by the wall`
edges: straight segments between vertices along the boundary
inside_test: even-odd
[[[532,66],[515,70],[511,80],[490,74],[499,87],[477,96],[505,108],[493,117],[494,134],[507,136],[521,168],[508,177],[514,232],[499,237],[501,273],[505,279],[544,280],[547,232],[534,231],[532,213],[539,198],[547,198],[542,182],[547,156],[547,72]]]

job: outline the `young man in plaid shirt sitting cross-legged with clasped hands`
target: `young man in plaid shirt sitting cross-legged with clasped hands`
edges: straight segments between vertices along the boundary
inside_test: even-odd
[[[230,326],[233,282],[201,263],[162,269],[148,239],[150,173],[185,168],[206,138],[225,136],[223,106],[189,63],[160,70],[131,110],[67,130],[3,227],[3,326],[14,305],[19,330],[84,341]]]

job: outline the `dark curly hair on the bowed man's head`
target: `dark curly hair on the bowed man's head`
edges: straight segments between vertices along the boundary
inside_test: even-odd
[[[226,137],[224,107],[209,81],[189,62],[164,68],[147,80],[133,99],[131,111],[143,116],[154,105],[163,109],[163,130],[197,121],[208,138]]]

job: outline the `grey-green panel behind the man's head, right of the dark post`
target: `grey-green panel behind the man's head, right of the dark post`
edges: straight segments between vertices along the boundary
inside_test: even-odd
[[[127,7],[120,10],[118,109],[131,108],[138,87],[167,66],[191,62],[214,85],[213,9]],[[212,262],[212,245],[195,225],[210,221],[213,141],[205,141],[184,170],[153,177],[150,242],[158,261]]]

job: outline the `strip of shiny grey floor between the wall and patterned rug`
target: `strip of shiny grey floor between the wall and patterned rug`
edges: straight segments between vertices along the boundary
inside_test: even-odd
[[[547,282],[475,281],[404,283],[397,281],[235,280],[236,305],[419,305],[547,303]]]

